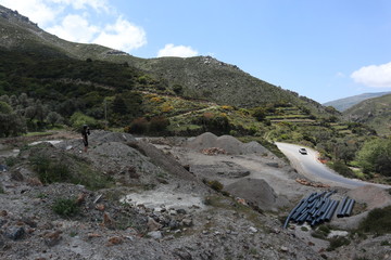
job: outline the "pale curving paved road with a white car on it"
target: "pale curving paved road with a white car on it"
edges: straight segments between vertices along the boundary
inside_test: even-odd
[[[289,158],[292,167],[312,181],[327,183],[332,186],[338,185],[350,188],[373,184],[356,179],[348,179],[336,173],[317,160],[318,153],[314,150],[305,147],[308,153],[306,155],[302,155],[299,153],[299,148],[302,146],[288,143],[276,143],[276,145]],[[373,185],[384,188],[391,187],[380,184]]]

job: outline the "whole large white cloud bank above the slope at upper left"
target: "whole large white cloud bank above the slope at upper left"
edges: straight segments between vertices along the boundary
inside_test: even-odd
[[[0,0],[0,4],[17,10],[45,30],[68,41],[98,43],[125,52],[147,44],[143,28],[123,17],[113,24],[93,22],[93,12],[100,15],[103,12],[108,16],[104,18],[113,21],[116,11],[108,0]]]

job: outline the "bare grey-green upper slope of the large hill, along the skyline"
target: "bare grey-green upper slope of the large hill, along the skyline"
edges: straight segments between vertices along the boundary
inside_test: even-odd
[[[289,90],[265,82],[235,65],[210,56],[140,58],[98,44],[83,44],[50,35],[16,11],[0,5],[0,47],[11,51],[41,52],[86,61],[100,60],[126,64],[164,82],[180,95],[239,107],[286,103],[303,107],[316,116],[330,113],[319,103]]]

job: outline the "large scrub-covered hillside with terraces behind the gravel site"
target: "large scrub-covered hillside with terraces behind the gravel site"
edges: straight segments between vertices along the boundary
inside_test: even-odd
[[[273,141],[300,143],[346,165],[375,134],[341,121],[332,107],[210,56],[139,58],[62,40],[15,11],[0,12],[0,136],[84,123],[149,135],[210,131],[270,148]]]

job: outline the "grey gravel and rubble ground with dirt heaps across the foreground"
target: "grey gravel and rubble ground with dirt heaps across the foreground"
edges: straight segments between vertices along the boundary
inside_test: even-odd
[[[328,242],[313,238],[311,231],[283,230],[279,217],[321,188],[297,183],[298,173],[257,143],[210,133],[186,140],[92,131],[85,154],[78,134],[55,140],[59,135],[64,140],[59,144],[22,150],[14,166],[0,173],[0,259],[357,259],[368,252],[370,259],[389,258],[389,246],[380,246],[389,236],[329,252]],[[5,150],[18,145],[17,140],[0,143]],[[226,154],[202,153],[211,147]],[[62,161],[73,174],[85,170],[77,165],[89,167],[113,184],[93,191],[42,184],[29,162],[36,155]],[[244,202],[223,196],[205,180],[218,180]],[[339,191],[341,196],[346,192]],[[55,213],[60,198],[72,198],[78,212]],[[247,202],[268,208],[260,212]]]

